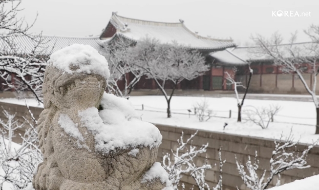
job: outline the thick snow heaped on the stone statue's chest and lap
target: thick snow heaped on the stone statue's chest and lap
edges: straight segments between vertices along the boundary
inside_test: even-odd
[[[79,111],[82,123],[94,134],[96,151],[108,153],[116,149],[152,148],[161,144],[159,130],[141,121],[127,99],[104,93],[101,106],[101,111],[94,107]]]

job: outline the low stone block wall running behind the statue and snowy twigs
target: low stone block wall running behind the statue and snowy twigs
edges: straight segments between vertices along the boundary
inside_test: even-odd
[[[17,119],[23,122],[23,117],[28,117],[28,110],[23,105],[9,104],[0,102],[0,107],[2,110],[10,110],[11,113],[16,113]],[[34,117],[37,119],[42,108],[30,107],[30,110],[34,114]],[[0,118],[4,119],[4,115],[1,113]],[[163,135],[162,144],[159,148],[159,153],[157,157],[158,162],[162,162],[163,155],[166,153],[171,153],[171,150],[176,150],[178,147],[177,139],[180,138],[182,132],[184,132],[184,140],[190,137],[191,134],[195,133],[196,130],[165,126],[156,124],[161,134]],[[18,133],[23,134],[23,130]],[[21,142],[19,135],[14,139],[15,142]],[[254,158],[255,152],[258,154],[259,160],[259,173],[261,174],[264,170],[269,172],[269,160],[271,158],[272,152],[275,148],[274,141],[271,139],[262,139],[248,136],[232,135],[227,133],[217,133],[209,131],[198,131],[196,136],[194,136],[192,145],[202,146],[203,144],[209,143],[207,152],[201,154],[195,158],[196,165],[200,166],[206,161],[214,166],[211,170],[206,173],[206,180],[211,187],[214,187],[219,179],[219,160],[218,160],[218,149],[222,146],[222,159],[226,159],[226,162],[223,166],[223,189],[224,190],[236,190],[238,187],[240,190],[246,190],[247,188],[243,185],[243,181],[240,178],[236,162],[235,155],[237,160],[241,163],[246,163],[248,156]],[[304,150],[306,145],[298,145],[298,150]],[[289,183],[296,179],[303,179],[315,174],[319,174],[319,147],[314,147],[308,154],[308,164],[311,165],[311,168],[303,170],[291,170],[284,171],[281,174],[281,183]],[[276,179],[274,179],[270,185],[273,187],[276,185]],[[195,185],[195,181],[189,175],[186,175],[182,178],[182,183],[185,184],[186,189],[189,189],[192,185]]]

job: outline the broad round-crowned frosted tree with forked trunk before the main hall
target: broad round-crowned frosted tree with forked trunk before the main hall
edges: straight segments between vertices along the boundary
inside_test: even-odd
[[[167,101],[167,117],[171,117],[170,101],[177,85],[192,80],[208,71],[205,58],[196,50],[173,44],[160,44],[156,39],[145,38],[131,49],[134,64],[143,68],[148,78],[154,79]],[[170,93],[166,84],[171,85]]]

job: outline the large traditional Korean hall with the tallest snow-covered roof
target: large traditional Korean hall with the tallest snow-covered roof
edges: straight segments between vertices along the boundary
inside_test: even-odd
[[[130,19],[113,13],[100,36],[101,40],[115,40],[124,38],[137,42],[143,38],[155,38],[161,43],[173,43],[196,49],[206,56],[207,62],[212,63],[211,53],[235,47],[232,39],[214,39],[202,37],[188,29],[183,20],[176,23],[155,22],[140,19]],[[177,89],[182,90],[226,90],[223,73],[228,69],[227,65],[212,67],[206,75],[194,80],[182,81]],[[226,84],[226,83],[225,83]],[[135,87],[138,89],[157,89],[151,79],[142,78]]]

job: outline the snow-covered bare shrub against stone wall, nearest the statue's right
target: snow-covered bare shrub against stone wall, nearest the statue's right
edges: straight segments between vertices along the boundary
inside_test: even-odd
[[[199,149],[192,146],[191,141],[196,134],[197,132],[184,142],[184,133],[182,133],[182,136],[178,139],[179,147],[175,152],[171,151],[173,160],[170,159],[170,153],[163,156],[163,168],[169,173],[169,179],[174,190],[177,190],[181,185],[183,186],[183,184],[180,184],[180,179],[186,174],[190,174],[194,178],[199,190],[209,189],[205,182],[205,171],[211,169],[211,165],[205,163],[202,166],[196,166],[194,163],[194,158],[206,152],[208,143]]]

